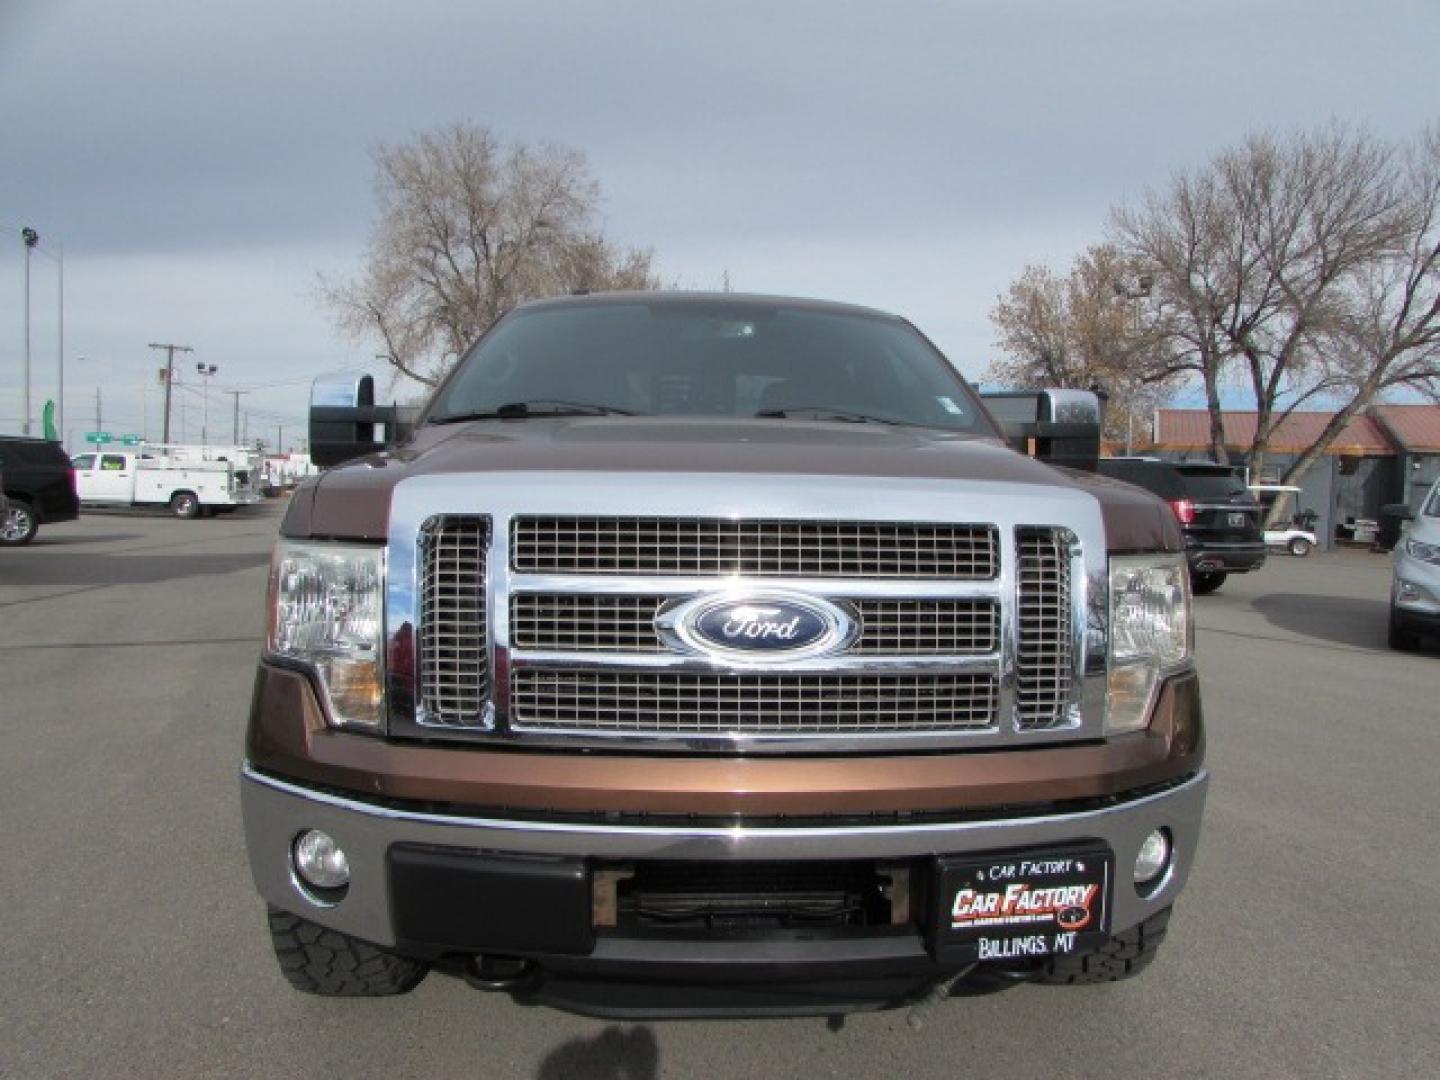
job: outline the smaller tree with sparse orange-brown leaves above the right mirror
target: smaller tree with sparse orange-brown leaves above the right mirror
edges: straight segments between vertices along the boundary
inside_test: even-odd
[[[1106,436],[1129,445],[1174,374],[1153,351],[1161,338],[1145,311],[1149,285],[1107,245],[1080,255],[1064,278],[1027,266],[991,310],[1005,359],[985,377],[1018,387],[1104,390]]]

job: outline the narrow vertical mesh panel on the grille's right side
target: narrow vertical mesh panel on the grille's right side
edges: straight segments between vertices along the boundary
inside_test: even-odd
[[[1058,727],[1074,684],[1068,544],[1054,528],[1021,528],[1015,543],[1015,723],[1021,730]]]

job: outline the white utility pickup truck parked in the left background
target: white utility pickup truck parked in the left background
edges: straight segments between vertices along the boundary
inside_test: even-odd
[[[229,513],[256,501],[229,461],[177,461],[122,451],[81,454],[72,459],[81,503],[168,507],[176,517]]]

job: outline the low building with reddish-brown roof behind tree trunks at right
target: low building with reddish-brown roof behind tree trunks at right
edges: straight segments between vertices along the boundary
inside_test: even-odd
[[[1266,455],[1264,475],[1251,482],[1276,482],[1296,458],[1315,444],[1332,412],[1293,412],[1276,428]],[[1254,439],[1254,412],[1223,416],[1231,462],[1246,465]],[[1210,413],[1204,409],[1158,409],[1153,449],[1172,461],[1210,459]],[[1440,405],[1380,405],[1351,420],[1325,455],[1297,484],[1299,505],[1313,510],[1316,533],[1326,546],[1356,518],[1380,518],[1387,503],[1420,505],[1440,478]]]

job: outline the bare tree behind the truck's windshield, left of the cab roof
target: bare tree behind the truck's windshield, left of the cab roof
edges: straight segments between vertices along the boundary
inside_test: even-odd
[[[503,144],[469,122],[374,151],[374,223],[353,279],[321,282],[344,331],[379,340],[402,374],[433,386],[516,304],[576,289],[655,288],[651,252],[598,223],[585,157]]]

